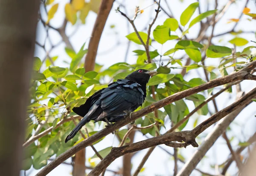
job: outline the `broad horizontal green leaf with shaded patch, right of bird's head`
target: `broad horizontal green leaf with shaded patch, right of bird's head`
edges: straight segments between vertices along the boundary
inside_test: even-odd
[[[224,57],[232,54],[232,49],[226,46],[210,45],[206,50],[206,56],[211,58]]]

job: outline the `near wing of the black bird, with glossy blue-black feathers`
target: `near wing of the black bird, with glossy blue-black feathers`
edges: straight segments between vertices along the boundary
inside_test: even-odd
[[[96,119],[126,115],[124,111],[134,111],[144,102],[141,85],[128,79],[118,79],[101,92],[99,97],[103,113]]]

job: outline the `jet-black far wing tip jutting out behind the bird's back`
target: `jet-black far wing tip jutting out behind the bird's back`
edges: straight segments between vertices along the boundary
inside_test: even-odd
[[[81,105],[81,106],[79,106],[79,107],[75,107],[75,108],[73,108],[72,110],[73,110],[77,115],[84,117],[84,116],[88,113],[88,111],[89,111],[89,109],[91,108],[91,106],[93,105],[93,103],[96,102],[96,100],[99,99],[99,97],[100,97],[101,94],[102,94],[101,92],[102,92],[104,89],[105,89],[105,88],[103,88],[103,89],[101,89],[101,90],[95,92],[91,97],[89,97],[89,98],[86,100],[86,102],[85,102],[83,105]]]

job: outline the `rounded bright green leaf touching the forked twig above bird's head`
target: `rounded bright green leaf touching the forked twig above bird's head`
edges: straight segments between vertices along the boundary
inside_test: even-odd
[[[166,26],[157,26],[153,31],[154,39],[160,43],[164,44],[170,37],[170,28]]]

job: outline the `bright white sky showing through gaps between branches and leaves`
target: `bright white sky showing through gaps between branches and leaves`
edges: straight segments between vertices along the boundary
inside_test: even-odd
[[[52,26],[59,27],[62,25],[63,20],[64,20],[64,6],[68,1],[69,0],[55,0],[55,3],[60,3],[60,4],[58,7],[58,11],[55,14],[55,17],[50,21],[50,24]],[[209,1],[211,3],[209,6],[209,10],[212,10],[212,9],[214,9],[214,6],[215,6],[214,5],[215,0],[209,0]],[[126,52],[127,43],[128,43],[128,40],[125,36],[129,33],[127,30],[127,20],[124,17],[122,17],[120,14],[118,14],[114,11],[114,9],[116,9],[117,6],[119,5],[119,2],[122,2],[122,1],[117,0],[114,3],[114,6],[111,10],[109,17],[108,17],[106,26],[104,28],[104,31],[102,33],[102,37],[101,37],[101,40],[99,43],[99,49],[98,49],[98,55],[96,57],[96,62],[104,65],[104,68],[108,68],[108,66],[113,65],[116,62],[123,62],[124,57],[125,57],[125,52]],[[189,6],[189,4],[191,4],[193,2],[196,2],[196,1],[195,0],[193,0],[193,1],[192,0],[184,0],[183,3],[181,3],[179,0],[169,1],[170,8],[174,14],[174,17],[179,21],[180,14],[183,12],[184,9],[186,9],[187,6]],[[206,2],[205,0],[200,0],[200,7],[201,7],[202,12],[206,11],[205,2]],[[214,34],[220,34],[225,31],[230,31],[233,28],[235,23],[227,23],[227,21],[230,18],[239,18],[239,15],[241,14],[241,11],[244,8],[245,2],[246,2],[246,0],[237,0],[236,3],[233,3],[230,6],[227,13],[224,14],[224,17],[222,17],[222,19],[216,24]],[[135,6],[140,6],[140,8],[143,9],[144,7],[149,6],[152,3],[153,3],[153,0],[132,0],[132,1],[126,0],[126,1],[124,1],[123,4],[128,9],[128,16],[133,17]],[[165,8],[165,10],[168,11],[168,8],[166,8],[165,1],[162,0],[161,3],[162,3],[163,8]],[[218,3],[219,3],[218,9],[222,9],[222,7],[227,3],[227,0],[218,0]],[[256,13],[256,5],[253,2],[253,0],[249,0],[247,7],[250,8],[250,10],[251,10],[250,13]],[[151,21],[152,21],[152,18],[149,18],[149,17],[153,17],[155,15],[154,9],[156,9],[156,8],[157,8],[156,5],[151,6],[148,9],[145,9],[144,13],[140,14],[137,17],[137,19],[135,20],[135,25],[137,26],[138,31],[142,31],[143,29],[145,29],[145,27],[148,27],[148,23],[151,23]],[[123,11],[123,8],[121,7],[120,10]],[[192,16],[191,19],[195,18],[197,15],[198,15],[198,10],[195,12],[195,14]],[[166,20],[166,18],[168,18],[166,16],[166,14],[164,14],[163,11],[161,11],[159,14],[159,17],[156,20],[156,23],[152,27],[152,31],[157,25],[162,25],[163,22]],[[247,17],[246,15],[242,16],[241,22],[239,22],[238,26],[236,27],[236,31],[239,31],[239,30],[255,31],[256,20],[249,21],[249,20],[247,20],[247,18],[251,19],[251,17]],[[44,18],[44,19],[46,19],[46,18]],[[92,32],[95,20],[96,20],[96,14],[94,12],[89,12],[89,14],[86,18],[86,25],[80,26],[79,30],[76,31],[76,34],[71,38],[70,41],[71,41],[72,45],[74,46],[75,51],[78,51],[84,42],[86,42],[86,46],[88,46],[88,43],[90,40],[90,34]],[[115,25],[115,28],[111,29],[110,28],[111,25]],[[76,26],[77,26],[77,24],[75,26],[71,26],[71,24],[68,23],[67,34],[68,35],[71,34],[76,29]],[[131,27],[131,25],[129,25],[129,27],[130,27],[130,33],[133,32],[133,28]],[[198,35],[198,29],[199,29],[199,23],[197,23],[195,26],[193,26],[189,30],[189,34],[187,34],[189,36],[189,39],[195,38]],[[209,28],[209,29],[211,29],[211,28]],[[207,31],[207,33],[209,34],[209,31]],[[174,34],[174,32],[172,32],[171,34]],[[61,40],[60,35],[52,29],[49,30],[49,35],[54,44],[58,43],[58,41]],[[177,35],[180,36],[179,30],[177,30]],[[44,43],[44,38],[46,36],[46,32],[44,31],[42,25],[38,25],[38,35],[37,36],[38,36],[37,41],[39,43]],[[212,41],[215,45],[225,45],[225,46],[232,48],[233,45],[228,43],[228,41],[231,40],[233,37],[234,37],[233,35],[228,34],[225,37],[214,38]],[[239,35],[239,37],[244,37],[248,41],[250,41],[250,40],[256,41],[255,34],[251,34],[251,33]],[[152,35],[151,35],[151,38],[152,38]],[[177,41],[175,41],[175,40],[168,41],[163,45],[162,49],[161,49],[161,45],[157,44],[157,43],[152,43],[152,46],[154,48],[158,49],[158,52],[163,54],[170,48],[174,48],[176,43],[177,43]],[[249,42],[247,45],[245,45],[243,47],[237,47],[237,51],[240,51],[242,48],[245,48],[246,46],[253,45],[253,44],[254,43]],[[59,56],[58,60],[55,63],[56,63],[56,65],[58,65],[60,67],[67,66],[67,64],[65,64],[63,61],[70,62],[69,57],[67,56],[67,54],[64,51],[64,47],[65,47],[65,45],[63,43],[58,48],[55,48],[52,51],[52,53],[50,54],[50,56],[55,56],[55,55]],[[153,51],[154,48],[150,48],[151,51]],[[137,56],[135,56],[134,53],[132,52],[136,49],[143,49],[143,46],[142,45],[138,46],[137,44],[131,43],[131,48],[128,52],[128,61],[127,61],[130,64],[133,64],[137,60]],[[161,50],[162,50],[162,52],[161,52]],[[35,56],[38,56],[41,59],[45,57],[44,51],[38,46],[36,47]],[[179,58],[181,56],[183,56],[182,51],[180,53],[177,53],[177,55],[175,54],[175,58]],[[158,58],[158,60],[159,60],[159,58]],[[211,65],[211,64],[216,65],[219,63],[219,60],[218,61],[217,60],[218,59],[212,59],[212,58],[207,59],[206,65]],[[178,73],[177,71],[179,71],[179,70],[174,70],[174,71],[172,70],[171,72]],[[215,71],[215,72],[219,73],[218,71]],[[229,70],[228,70],[228,72],[230,73]],[[184,79],[186,81],[189,81],[192,78],[198,77],[198,74],[203,75],[202,70],[190,71],[189,74],[187,74],[184,77]],[[218,74],[218,76],[220,76],[220,74]],[[202,76],[202,77],[204,78],[204,76]],[[256,86],[256,82],[244,81],[242,85],[243,85],[242,90],[245,92],[248,92]],[[216,93],[219,89],[220,88],[216,88],[214,92]],[[217,101],[219,110],[226,107],[227,105],[230,105],[234,101],[235,88],[233,88],[233,90],[234,90],[233,94],[223,93],[223,94],[221,94],[221,96],[217,97],[216,101]],[[231,99],[229,100],[228,98],[230,98],[230,97],[231,97]],[[189,107],[189,111],[192,111],[195,108],[193,102],[186,100],[186,103]],[[213,111],[212,102],[210,102],[208,104],[208,106],[209,106],[209,109]],[[242,111],[242,113],[240,113],[239,116],[236,118],[236,120],[232,123],[232,125],[231,125],[232,131],[228,133],[228,136],[229,137],[237,136],[238,138],[236,138],[236,139],[239,139],[242,142],[244,140],[248,139],[255,132],[255,125],[256,125],[255,119],[252,118],[252,117],[254,117],[254,115],[256,115],[255,103],[252,103],[249,107],[247,107],[244,111]],[[193,123],[197,116],[198,116],[198,114],[195,114],[194,116],[192,116],[189,120],[188,125],[183,130],[191,130],[193,128]],[[209,114],[208,114],[208,116],[200,116],[199,122],[204,121],[205,119],[207,119],[207,117],[209,117]],[[199,122],[198,122],[198,124],[199,124]],[[166,130],[168,130],[170,128],[170,124],[171,123],[169,121],[169,118],[166,117]],[[207,133],[209,133],[209,131],[211,131],[211,130],[212,130],[212,127],[207,129],[203,134],[201,134],[201,136],[206,136]],[[164,133],[164,132],[165,132],[165,130],[162,129],[161,133]],[[142,133],[138,132],[138,133],[136,133],[134,142],[138,142],[138,141],[141,141],[144,139],[147,139],[147,138],[145,136],[143,136]],[[197,139],[197,141],[199,142],[199,145],[200,145],[201,141],[199,141],[198,139]],[[236,146],[238,143],[239,143],[238,140],[232,141],[233,149],[236,149]],[[102,145],[102,144],[104,144],[104,145]],[[99,150],[102,150],[109,146],[116,147],[116,146],[118,146],[118,144],[119,144],[119,142],[117,141],[116,138],[114,138],[114,135],[110,134],[102,142],[99,142],[98,144],[94,145],[94,147],[99,151]],[[170,153],[173,153],[173,148],[169,148],[165,145],[162,145],[162,147],[165,148],[166,150],[168,150]],[[186,149],[180,150],[180,152],[186,159],[189,159],[189,157],[192,156],[193,152],[196,149],[197,148],[188,146]],[[141,159],[143,158],[143,156],[145,155],[146,152],[147,152],[147,149],[140,151],[133,157],[132,164],[134,167],[132,168],[132,173],[135,171],[135,169],[139,165]],[[214,169],[209,167],[209,165],[214,165],[216,162],[218,164],[224,162],[225,159],[227,159],[227,156],[229,155],[229,153],[230,153],[230,151],[228,150],[225,141],[222,138],[219,138],[217,140],[217,142],[215,142],[214,147],[208,151],[208,153],[207,153],[208,159],[205,159],[204,162],[199,163],[197,167],[200,168],[201,170],[207,171],[209,173],[217,174],[217,173],[215,173]],[[88,158],[93,155],[94,155],[93,150],[90,147],[87,147],[86,148],[86,157]],[[68,159],[67,162],[70,163],[71,159]],[[89,165],[89,163],[87,162],[86,165]],[[182,167],[182,165],[183,165],[182,163],[178,162],[179,169]],[[173,166],[174,166],[174,162],[173,162],[172,156],[170,156],[165,151],[163,151],[162,149],[157,147],[154,150],[154,152],[151,154],[151,156],[149,157],[148,161],[145,163],[145,165],[144,165],[145,171],[143,173],[141,173],[140,175],[141,176],[143,176],[143,175],[145,175],[145,176],[153,176],[153,175],[170,176],[173,174]],[[234,162],[233,162],[232,166],[234,168],[234,166],[235,166]],[[122,158],[116,159],[108,168],[110,168],[112,170],[118,170],[118,167],[122,167]],[[38,173],[38,171],[39,170],[33,170],[30,175],[35,175],[36,173]],[[61,164],[57,168],[52,170],[52,172],[50,172],[48,175],[49,176],[56,176],[56,175],[70,176],[71,171],[72,171],[71,165]],[[27,173],[29,173],[29,171],[27,171]],[[87,173],[89,173],[89,170],[87,170]],[[230,173],[235,174],[236,170],[230,171]],[[23,175],[23,172],[21,172],[21,175]],[[113,173],[106,172],[105,175],[111,176],[111,175],[113,175]],[[201,174],[198,173],[197,171],[192,172],[192,176],[198,176],[198,175],[201,175]]]

